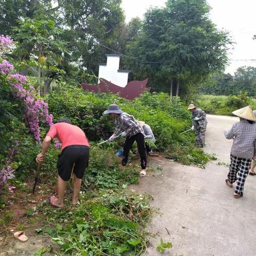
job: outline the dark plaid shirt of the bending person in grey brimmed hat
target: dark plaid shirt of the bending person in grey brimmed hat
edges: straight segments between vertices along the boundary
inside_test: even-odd
[[[114,135],[117,135],[121,131],[124,131],[129,137],[139,132],[145,136],[145,133],[142,127],[140,126],[139,122],[132,115],[129,115],[125,112],[123,112],[116,118],[115,124],[116,130],[114,132]]]

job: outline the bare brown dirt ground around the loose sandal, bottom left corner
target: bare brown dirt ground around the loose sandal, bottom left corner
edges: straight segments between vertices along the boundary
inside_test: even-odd
[[[30,187],[32,191],[34,182],[29,181],[25,184],[26,187]],[[40,185],[37,185],[35,195],[27,193],[27,190],[19,190],[13,195],[8,195],[9,200],[5,211],[12,211],[14,212],[14,215],[9,226],[5,229],[0,229],[0,256],[33,256],[35,252],[38,252],[42,247],[47,249],[47,252],[43,255],[54,255],[55,253],[50,253],[50,251],[58,250],[58,245],[53,244],[51,238],[36,234],[35,229],[46,227],[45,223],[40,221],[43,218],[40,218],[40,216],[37,215],[30,217],[26,215],[29,209],[33,209],[37,204],[49,200],[49,190],[55,192],[55,187],[41,187]],[[33,222],[29,221],[31,218],[34,219]],[[18,226],[25,227],[25,234],[28,237],[26,243],[22,243],[13,237],[15,231],[19,231]]]

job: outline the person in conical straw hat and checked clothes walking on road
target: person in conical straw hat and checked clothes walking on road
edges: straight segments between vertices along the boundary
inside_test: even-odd
[[[225,131],[227,139],[234,139],[231,148],[231,163],[226,184],[233,187],[237,181],[234,197],[243,196],[244,182],[249,173],[252,157],[256,157],[256,116],[251,106],[233,112],[240,121],[233,124],[229,131]]]

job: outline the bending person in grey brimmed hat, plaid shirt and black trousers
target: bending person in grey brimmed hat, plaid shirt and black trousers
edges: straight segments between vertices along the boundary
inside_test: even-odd
[[[123,149],[122,165],[127,164],[129,151],[134,141],[137,142],[142,169],[140,176],[145,177],[147,167],[147,156],[144,142],[145,134],[139,122],[135,120],[133,116],[119,109],[119,106],[116,104],[111,104],[108,107],[108,110],[104,111],[103,114],[110,114],[111,117],[115,118],[116,130],[108,140],[113,141],[114,137],[116,137],[121,131],[123,131],[122,136],[126,137]]]

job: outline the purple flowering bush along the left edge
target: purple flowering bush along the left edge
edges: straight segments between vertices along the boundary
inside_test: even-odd
[[[31,166],[35,168],[41,129],[48,130],[53,124],[47,103],[38,98],[26,76],[14,73],[14,66],[7,60],[6,53],[13,44],[9,36],[0,36],[0,191],[6,187],[10,192],[16,169],[21,177]],[[52,169],[52,164],[54,161],[45,165]]]

